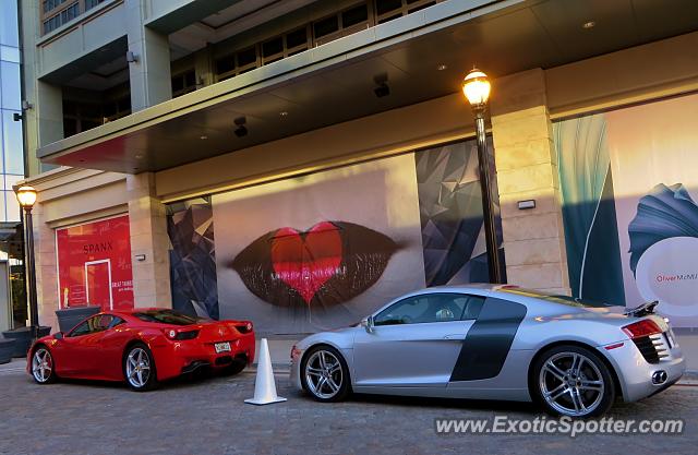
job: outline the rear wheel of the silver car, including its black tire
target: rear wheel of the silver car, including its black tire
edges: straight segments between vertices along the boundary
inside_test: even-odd
[[[538,356],[529,384],[533,399],[552,416],[598,417],[615,400],[606,363],[599,354],[576,345],[555,346]]]

